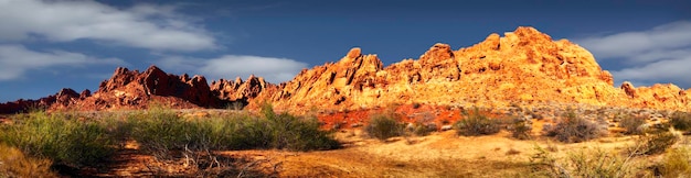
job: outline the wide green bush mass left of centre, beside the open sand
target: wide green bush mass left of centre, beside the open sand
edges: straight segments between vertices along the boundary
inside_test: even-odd
[[[168,109],[151,109],[130,118],[132,138],[145,151],[166,157],[169,151],[279,148],[333,149],[340,143],[321,131],[316,119],[276,114],[264,107],[261,118],[236,115],[184,120]]]

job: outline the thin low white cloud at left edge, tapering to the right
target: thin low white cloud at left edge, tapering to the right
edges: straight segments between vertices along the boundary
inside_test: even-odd
[[[55,66],[123,65],[118,58],[95,58],[64,51],[35,52],[21,45],[0,45],[0,81],[21,78],[28,70]]]

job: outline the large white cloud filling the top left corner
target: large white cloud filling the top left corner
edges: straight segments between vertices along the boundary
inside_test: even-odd
[[[173,5],[117,9],[91,0],[0,0],[0,41],[95,40],[160,51],[216,48],[201,25]]]

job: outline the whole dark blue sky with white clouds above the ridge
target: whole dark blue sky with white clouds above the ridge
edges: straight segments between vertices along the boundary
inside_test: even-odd
[[[682,0],[0,0],[0,102],[96,91],[116,67],[277,84],[352,47],[387,65],[518,26],[585,47],[616,87],[691,87]]]

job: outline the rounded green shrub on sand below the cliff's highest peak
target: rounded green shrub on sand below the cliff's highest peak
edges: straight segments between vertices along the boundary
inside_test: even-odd
[[[498,133],[501,129],[501,122],[499,120],[487,118],[487,115],[481,114],[477,108],[472,113],[461,114],[466,118],[454,124],[454,127],[458,130],[459,135],[490,135]]]

